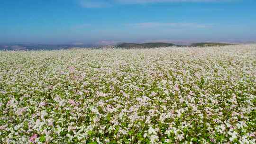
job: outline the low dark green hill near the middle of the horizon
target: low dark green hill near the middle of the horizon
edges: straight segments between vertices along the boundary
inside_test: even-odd
[[[122,43],[116,45],[119,48],[153,48],[153,47],[168,47],[174,46],[171,43],[143,43],[143,44],[136,44],[136,43]]]

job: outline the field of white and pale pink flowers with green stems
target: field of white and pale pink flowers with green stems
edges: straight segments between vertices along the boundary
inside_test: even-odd
[[[0,144],[256,144],[256,45],[0,52]]]

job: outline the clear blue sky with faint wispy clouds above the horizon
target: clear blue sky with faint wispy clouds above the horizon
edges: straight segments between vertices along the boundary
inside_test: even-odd
[[[256,41],[256,0],[0,0],[0,43]]]

